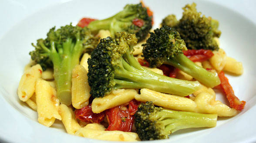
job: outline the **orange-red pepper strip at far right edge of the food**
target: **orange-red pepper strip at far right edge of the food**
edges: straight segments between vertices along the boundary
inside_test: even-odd
[[[223,71],[219,72],[219,79],[221,81],[221,88],[225,92],[226,97],[230,103],[230,107],[235,108],[236,110],[243,110],[246,101],[240,101],[238,97],[236,97],[232,86],[229,84],[228,78],[226,78]]]

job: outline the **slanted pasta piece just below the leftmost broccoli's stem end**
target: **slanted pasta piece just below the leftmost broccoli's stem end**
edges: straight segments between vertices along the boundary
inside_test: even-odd
[[[61,104],[59,114],[61,115],[62,123],[64,124],[67,133],[74,134],[81,128],[75,119],[75,114],[71,107]]]

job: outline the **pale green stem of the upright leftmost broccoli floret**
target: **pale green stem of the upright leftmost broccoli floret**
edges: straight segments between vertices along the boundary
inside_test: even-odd
[[[72,39],[67,39],[63,43],[63,51],[57,53],[55,48],[52,48],[50,58],[54,65],[54,80],[56,82],[57,97],[62,104],[71,104],[71,79],[72,70],[75,65],[79,64],[79,58],[82,52],[82,42],[77,38],[76,44]]]

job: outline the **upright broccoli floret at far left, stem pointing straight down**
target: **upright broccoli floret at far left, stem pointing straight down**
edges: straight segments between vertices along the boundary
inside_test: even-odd
[[[30,52],[32,60],[42,68],[54,68],[57,97],[63,104],[71,104],[72,69],[79,64],[84,52],[92,51],[98,44],[98,38],[88,28],[66,25],[60,29],[53,27],[46,39],[38,39],[35,50]]]

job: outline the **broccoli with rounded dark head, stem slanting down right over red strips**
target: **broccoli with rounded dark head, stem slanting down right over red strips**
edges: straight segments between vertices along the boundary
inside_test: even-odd
[[[209,72],[195,65],[183,54],[182,51],[187,50],[185,42],[177,31],[168,26],[155,29],[142,46],[143,56],[152,68],[162,64],[172,65],[208,87],[212,88],[220,84],[217,73]]]

